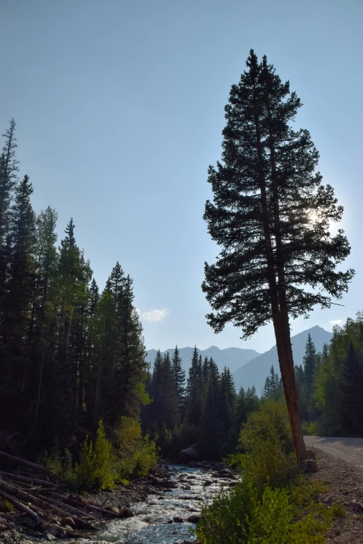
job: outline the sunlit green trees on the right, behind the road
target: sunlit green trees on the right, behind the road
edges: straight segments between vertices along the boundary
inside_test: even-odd
[[[333,329],[330,345],[316,352],[308,336],[302,364],[295,366],[305,432],[323,436],[363,436],[363,313]],[[281,399],[273,367],[264,398]]]

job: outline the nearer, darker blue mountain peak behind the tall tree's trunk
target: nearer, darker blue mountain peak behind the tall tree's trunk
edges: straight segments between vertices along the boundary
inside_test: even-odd
[[[302,364],[302,358],[305,355],[305,345],[309,333],[312,336],[312,341],[316,347],[316,352],[321,352],[323,345],[329,345],[330,340],[332,339],[332,333],[325,331],[325,329],[318,327],[317,325],[316,327],[312,327],[311,329],[307,329],[306,331],[302,331],[301,333],[292,336],[291,344],[293,349],[293,362],[295,365]],[[261,393],[261,388],[264,387],[271,365],[273,365],[275,370],[277,370],[277,372],[280,374],[276,345],[271,347],[268,352],[257,356],[251,361],[248,361],[248,363],[233,372],[236,390],[239,390],[240,387],[248,388],[255,386],[257,394]]]

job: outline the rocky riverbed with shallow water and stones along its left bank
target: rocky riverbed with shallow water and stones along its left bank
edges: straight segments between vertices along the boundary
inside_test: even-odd
[[[191,529],[199,520],[203,502],[213,499],[220,485],[233,486],[236,477],[220,463],[191,462],[188,465],[160,464],[153,474],[127,486],[92,496],[99,505],[120,509],[124,519],[99,519],[97,531],[83,533],[79,544],[173,544],[195,541]],[[1,543],[42,544],[58,539],[37,535],[26,527],[0,534]],[[61,542],[61,541],[59,541]],[[68,541],[70,542],[70,541]]]

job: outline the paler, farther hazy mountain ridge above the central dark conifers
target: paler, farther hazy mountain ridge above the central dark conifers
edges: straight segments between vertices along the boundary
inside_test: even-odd
[[[170,358],[174,352],[174,347],[166,349],[161,354],[169,353]],[[191,365],[191,358],[193,355],[194,347],[181,347],[179,348],[179,355],[181,358],[181,365],[184,370],[188,370]],[[231,372],[239,369],[241,366],[248,363],[252,359],[258,357],[260,354],[255,349],[242,349],[240,347],[227,347],[225,349],[219,349],[219,347],[211,346],[207,349],[197,349],[198,354],[208,358],[213,357],[214,361],[218,365],[219,370],[223,370],[224,366],[227,366]],[[149,349],[147,352],[147,361],[154,363],[156,356],[156,349]]]

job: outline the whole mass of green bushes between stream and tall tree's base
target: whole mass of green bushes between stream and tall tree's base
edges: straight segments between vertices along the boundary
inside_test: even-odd
[[[229,463],[241,470],[241,480],[204,506],[200,544],[325,542],[332,512],[314,502],[318,484],[298,470],[285,406],[270,401],[249,415]]]

